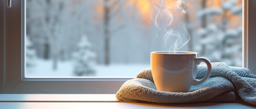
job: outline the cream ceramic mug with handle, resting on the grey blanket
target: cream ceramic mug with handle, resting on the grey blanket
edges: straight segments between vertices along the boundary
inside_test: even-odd
[[[158,51],[151,52],[151,72],[157,90],[166,92],[189,92],[191,85],[204,82],[211,75],[211,62],[198,57],[197,52]],[[198,64],[207,64],[204,78],[195,79]]]

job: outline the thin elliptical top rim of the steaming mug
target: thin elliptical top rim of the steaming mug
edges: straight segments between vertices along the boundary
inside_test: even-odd
[[[198,54],[198,52],[190,52],[190,51],[154,51],[151,52],[153,54]]]

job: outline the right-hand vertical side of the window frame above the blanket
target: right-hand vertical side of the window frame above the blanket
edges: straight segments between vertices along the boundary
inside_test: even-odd
[[[256,1],[243,0],[243,68],[256,74]]]

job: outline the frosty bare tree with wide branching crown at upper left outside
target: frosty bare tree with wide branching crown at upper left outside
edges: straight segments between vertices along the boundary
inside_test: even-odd
[[[52,60],[53,70],[58,69],[59,60],[70,59],[79,37],[92,31],[95,2],[27,0],[27,35],[36,44],[39,57]]]

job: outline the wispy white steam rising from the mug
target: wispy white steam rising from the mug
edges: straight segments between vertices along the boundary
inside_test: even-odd
[[[155,25],[159,28],[157,37],[164,37],[164,46],[166,50],[176,51],[182,48],[190,40],[190,35],[186,31],[185,24],[183,23],[183,32],[177,31],[177,28],[171,28],[174,17],[180,17],[179,15],[174,16],[171,11],[177,11],[177,13],[186,13],[186,4],[183,0],[178,0],[171,4],[166,4],[167,0],[156,0],[157,10],[155,16]],[[182,19],[182,18],[179,18]],[[153,20],[153,19],[152,19]],[[179,29],[180,30],[180,29]],[[161,35],[161,33],[164,33]]]

